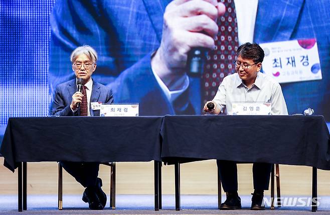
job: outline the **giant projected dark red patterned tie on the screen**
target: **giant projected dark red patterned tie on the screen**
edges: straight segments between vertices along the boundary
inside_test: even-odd
[[[219,0],[218,0],[219,1]],[[215,38],[217,48],[208,52],[201,80],[202,107],[212,100],[220,83],[228,74],[235,72],[233,61],[238,48],[237,20],[234,0],[220,0],[226,12],[218,17],[219,32]]]

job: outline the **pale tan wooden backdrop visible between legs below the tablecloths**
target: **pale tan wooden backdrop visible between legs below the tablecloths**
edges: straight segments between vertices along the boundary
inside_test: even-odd
[[[2,164],[0,157],[0,195],[17,194],[17,171],[13,173]],[[28,162],[28,194],[57,194],[57,162]],[[153,161],[117,162],[117,194],[153,194]],[[282,195],[311,195],[311,170],[309,166],[280,165]],[[103,190],[109,194],[110,168],[100,165],[99,177]],[[330,171],[317,171],[319,195],[330,195]],[[253,192],[252,164],[238,164],[239,194]],[[174,194],[174,165],[162,166],[162,194]],[[65,170],[63,194],[81,194],[84,188]],[[266,194],[269,194],[266,191]],[[181,194],[217,194],[216,160],[181,164]],[[1,202],[0,202],[1,203]]]

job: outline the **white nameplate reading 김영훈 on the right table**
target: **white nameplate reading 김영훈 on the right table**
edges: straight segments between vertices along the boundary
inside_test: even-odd
[[[271,103],[233,102],[233,115],[270,115]]]

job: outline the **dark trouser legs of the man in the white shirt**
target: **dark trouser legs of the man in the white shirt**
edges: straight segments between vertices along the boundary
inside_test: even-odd
[[[238,190],[237,162],[229,160],[217,160],[219,176],[225,192]],[[257,190],[266,190],[269,187],[271,163],[253,163],[253,187]]]

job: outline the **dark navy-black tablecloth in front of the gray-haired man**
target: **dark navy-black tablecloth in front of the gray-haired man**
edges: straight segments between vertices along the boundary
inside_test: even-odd
[[[12,117],[0,152],[22,161],[160,161],[163,117]]]

